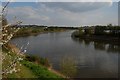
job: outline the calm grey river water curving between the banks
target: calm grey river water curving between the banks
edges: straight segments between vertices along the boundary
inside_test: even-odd
[[[64,57],[77,62],[76,78],[117,78],[120,46],[104,42],[73,39],[73,31],[45,33],[19,37],[11,43],[27,49],[26,54],[48,58],[53,68],[60,71]],[[27,43],[29,46],[25,47]]]

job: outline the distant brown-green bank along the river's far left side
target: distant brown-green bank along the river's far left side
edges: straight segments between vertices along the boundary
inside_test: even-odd
[[[48,33],[48,32],[62,32],[66,31],[65,28],[58,28],[58,27],[23,27],[21,28],[14,37],[23,37],[23,36],[31,36],[31,35],[38,35],[41,33]]]

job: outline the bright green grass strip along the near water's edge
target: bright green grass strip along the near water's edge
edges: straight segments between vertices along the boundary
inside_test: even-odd
[[[35,75],[38,76],[38,78],[56,78],[57,80],[64,80],[61,76],[58,76],[55,73],[50,72],[46,67],[34,64],[29,61],[22,61],[21,62],[23,65],[28,67]]]

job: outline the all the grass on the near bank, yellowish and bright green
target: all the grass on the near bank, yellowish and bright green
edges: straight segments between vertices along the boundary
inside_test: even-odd
[[[2,55],[5,56],[5,59],[3,60],[2,63],[2,69],[4,70],[8,68],[10,62],[12,62],[16,56],[20,56],[20,55],[17,55],[16,53],[13,53],[10,50],[5,49],[5,47],[3,47],[2,50],[3,50]],[[2,77],[3,78],[42,78],[42,80],[46,80],[48,78],[53,80],[54,78],[55,80],[63,80],[61,76],[49,71],[47,67],[40,64],[36,64],[35,62],[30,62],[25,58],[23,58],[23,61],[18,61],[16,63],[16,69],[17,70],[19,69],[20,71],[13,72],[11,74],[9,73],[7,75],[2,75]]]

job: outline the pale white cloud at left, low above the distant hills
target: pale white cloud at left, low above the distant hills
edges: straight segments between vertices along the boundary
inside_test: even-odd
[[[48,16],[40,14],[37,9],[30,6],[8,8],[8,18],[12,19],[14,16],[16,16],[19,20],[22,20],[24,24],[34,23],[35,21],[49,21]]]

